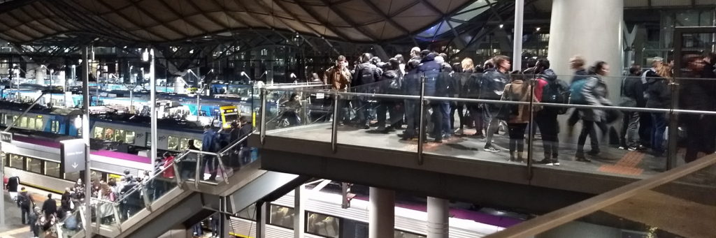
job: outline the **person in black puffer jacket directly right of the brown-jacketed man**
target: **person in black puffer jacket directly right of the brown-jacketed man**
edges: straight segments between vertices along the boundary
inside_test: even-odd
[[[378,68],[378,66],[375,66],[370,62],[370,59],[372,58],[372,54],[369,53],[364,53],[360,57],[361,64],[358,64],[358,66],[356,66],[352,81],[352,86],[354,87],[354,90],[356,92],[374,93],[375,88],[373,85],[370,84],[373,84],[380,80],[380,75],[382,74],[382,71]],[[363,127],[363,129],[370,129],[368,120],[369,104],[367,99],[358,97],[355,102],[357,105],[356,116],[358,119],[359,127]]]

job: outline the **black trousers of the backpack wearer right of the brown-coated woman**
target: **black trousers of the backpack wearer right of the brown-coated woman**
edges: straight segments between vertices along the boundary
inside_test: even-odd
[[[535,122],[542,135],[542,146],[544,147],[545,159],[557,158],[559,152],[559,123],[557,114],[551,111],[538,111],[535,114]]]

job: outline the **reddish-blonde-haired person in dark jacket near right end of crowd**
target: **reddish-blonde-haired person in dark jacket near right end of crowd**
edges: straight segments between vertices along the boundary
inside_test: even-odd
[[[667,64],[657,66],[656,75],[647,79],[644,96],[647,99],[647,107],[654,109],[667,109],[671,107],[671,91],[669,84],[674,77],[672,69]],[[664,131],[667,128],[666,114],[663,112],[652,112],[652,152],[654,156],[661,157],[664,152]]]

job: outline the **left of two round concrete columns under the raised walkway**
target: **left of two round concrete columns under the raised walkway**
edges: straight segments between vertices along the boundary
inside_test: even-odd
[[[370,187],[369,238],[395,236],[395,192]]]

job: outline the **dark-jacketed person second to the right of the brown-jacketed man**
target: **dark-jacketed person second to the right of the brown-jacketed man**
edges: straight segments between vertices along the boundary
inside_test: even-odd
[[[400,62],[397,59],[390,59],[384,64],[383,74],[380,76],[380,93],[400,94],[402,88],[402,74],[400,73]],[[396,99],[379,99],[376,109],[378,118],[378,132],[390,132],[395,130],[402,121],[402,113],[397,109],[399,101]],[[386,127],[386,112],[390,114],[390,121]]]

